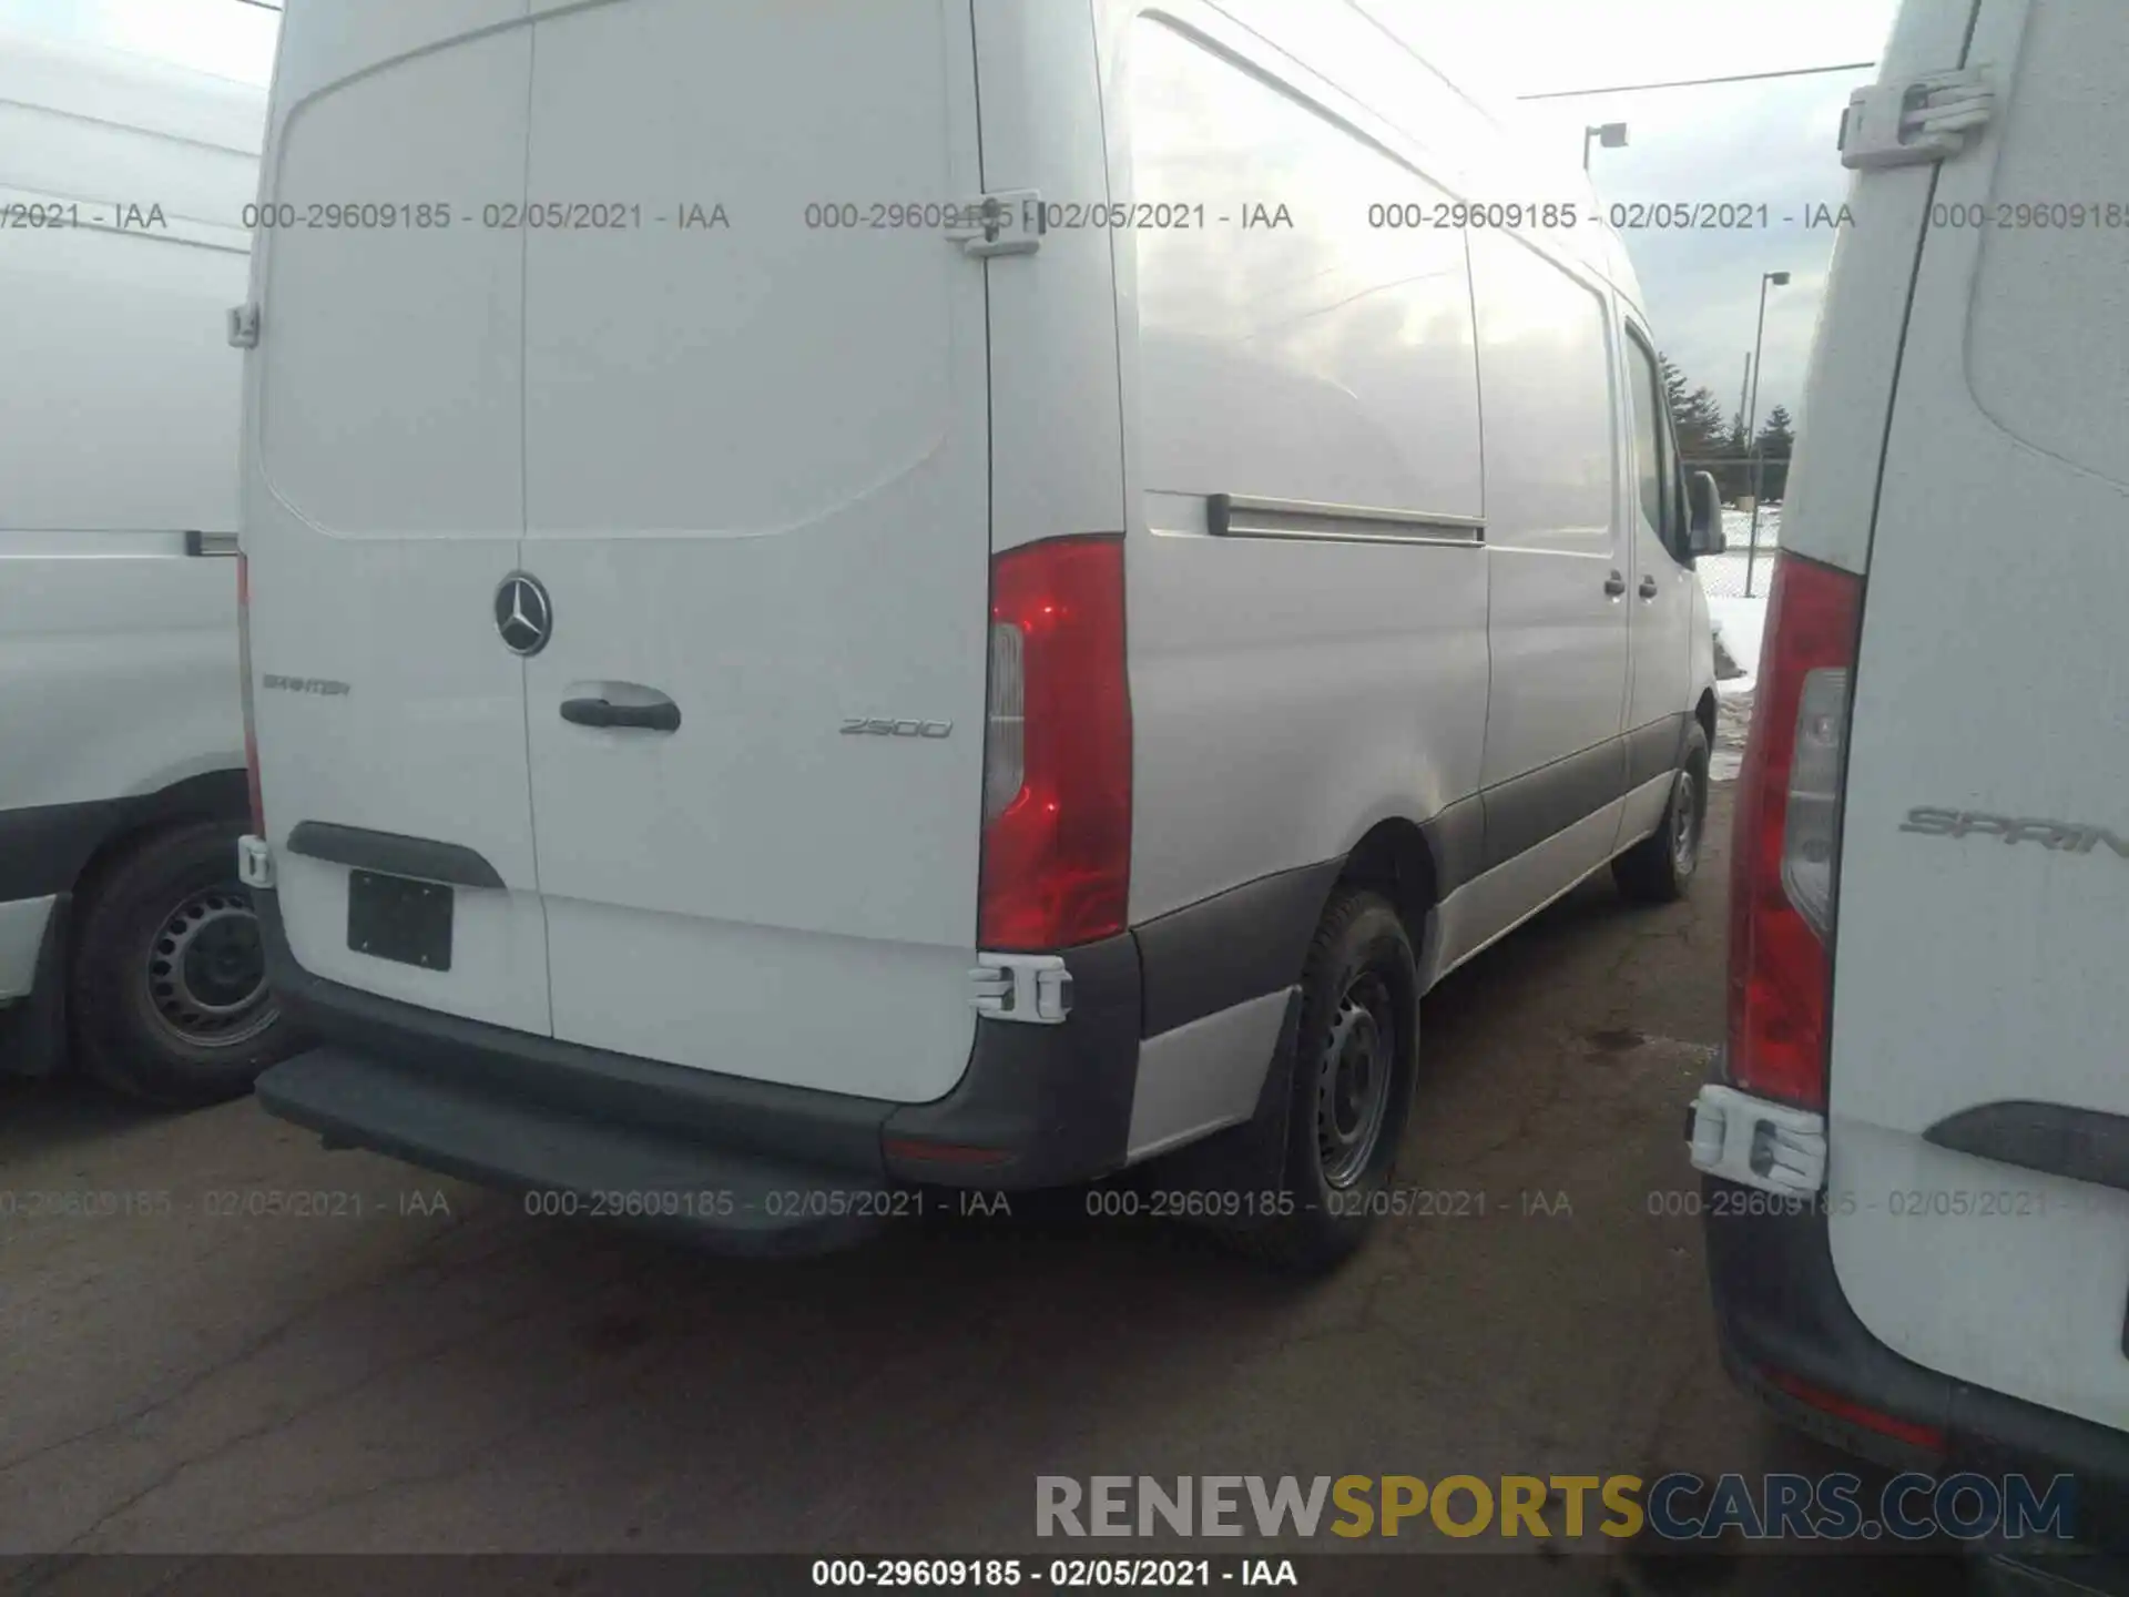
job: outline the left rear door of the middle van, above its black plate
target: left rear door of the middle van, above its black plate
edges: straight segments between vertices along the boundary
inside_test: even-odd
[[[524,236],[483,226],[524,196],[530,75],[524,0],[321,0],[285,19],[253,249],[243,547],[296,960],[545,1033],[524,666],[494,622],[524,532]],[[358,879],[349,860],[439,867],[400,843],[379,856],[375,837],[300,852],[302,822],[464,850],[500,886],[449,888],[447,952],[432,894],[422,935],[385,950],[375,928],[417,890],[375,879],[390,871]]]

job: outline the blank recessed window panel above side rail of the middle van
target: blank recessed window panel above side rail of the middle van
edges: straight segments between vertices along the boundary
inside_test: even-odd
[[[1122,81],[1145,485],[1480,517],[1448,196],[1167,23],[1133,26]]]

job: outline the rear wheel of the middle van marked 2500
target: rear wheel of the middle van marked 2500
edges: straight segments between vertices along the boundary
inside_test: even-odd
[[[1282,1169],[1262,1182],[1290,1212],[1231,1233],[1235,1246],[1280,1269],[1322,1275],[1367,1241],[1371,1195],[1390,1184],[1412,1112],[1416,967],[1405,922],[1382,894],[1331,894],[1301,967]]]

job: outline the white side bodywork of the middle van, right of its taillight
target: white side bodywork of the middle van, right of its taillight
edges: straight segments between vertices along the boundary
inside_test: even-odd
[[[1635,285],[1601,228],[1469,243],[1369,228],[1371,202],[1535,190],[1586,207],[1588,190],[1358,9],[1297,26],[1273,4],[1116,2],[1101,28],[1111,196],[1214,219],[1116,232],[1137,922],[1620,737],[1631,611],[1603,583],[1629,560],[1624,430],[1607,407],[1614,307]],[[1192,51],[1186,96],[1173,85]],[[1137,104],[1148,72],[1167,98]],[[1220,217],[1239,228],[1252,202],[1284,202],[1294,232],[1224,234]],[[1471,251],[1514,251],[1554,300],[1482,292],[1473,311]],[[1548,405],[1539,368],[1563,356],[1586,388]],[[1554,462],[1573,473],[1565,488],[1546,477]],[[1437,543],[1220,539],[1211,492],[1467,517],[1484,543],[1454,526]],[[1701,639],[1707,688],[1705,624]],[[1684,677],[1684,630],[1673,645]],[[1663,713],[1690,705],[1680,679]],[[1514,905],[1505,924],[1635,841],[1605,813],[1492,884],[1486,903]],[[1475,903],[1443,913],[1471,926],[1446,950],[1501,931],[1480,931]]]

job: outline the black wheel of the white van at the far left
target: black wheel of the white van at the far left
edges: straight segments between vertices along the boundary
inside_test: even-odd
[[[264,982],[236,822],[134,841],[77,911],[68,1014],[75,1058],[104,1086],[168,1107],[243,1097],[294,1035]]]

